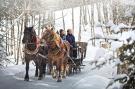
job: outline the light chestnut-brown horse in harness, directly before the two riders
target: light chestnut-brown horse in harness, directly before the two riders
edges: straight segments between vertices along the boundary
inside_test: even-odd
[[[68,62],[70,44],[61,40],[53,29],[46,27],[41,40],[49,46],[48,61],[51,67],[52,76],[57,77],[57,82],[61,82],[61,77],[66,77],[66,67]],[[53,68],[55,66],[55,68]],[[63,76],[62,76],[63,72]]]

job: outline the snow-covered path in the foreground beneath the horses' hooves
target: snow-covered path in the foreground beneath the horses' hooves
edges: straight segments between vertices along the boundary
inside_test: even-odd
[[[85,64],[81,73],[63,79],[62,83],[57,83],[50,75],[39,81],[34,77],[34,70],[30,71],[30,82],[23,81],[24,72],[15,75],[1,73],[0,89],[105,89],[109,82],[106,77],[113,74],[111,67],[108,65],[100,70],[90,70],[88,62]]]

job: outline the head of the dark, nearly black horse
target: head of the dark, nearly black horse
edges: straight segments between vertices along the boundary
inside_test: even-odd
[[[33,29],[33,27],[25,27],[22,43],[23,44],[35,43],[35,41],[36,41],[36,32]]]

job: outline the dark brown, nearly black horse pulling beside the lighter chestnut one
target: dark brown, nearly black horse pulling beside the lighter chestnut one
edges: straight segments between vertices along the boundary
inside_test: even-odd
[[[33,60],[36,65],[36,71],[35,71],[35,77],[38,77],[38,79],[42,79],[43,73],[45,73],[45,67],[46,65],[41,65],[39,63],[39,60],[46,60],[47,58],[44,56],[41,56],[41,47],[37,45],[37,38],[36,38],[36,32],[33,29],[33,27],[25,27],[24,29],[24,36],[22,39],[22,43],[24,44],[24,59],[26,63],[26,74],[24,77],[25,81],[29,81],[29,62]],[[39,59],[39,60],[38,60]],[[43,62],[43,61],[42,61]],[[45,64],[45,62],[44,62]],[[38,76],[38,69],[39,69],[39,76]]]

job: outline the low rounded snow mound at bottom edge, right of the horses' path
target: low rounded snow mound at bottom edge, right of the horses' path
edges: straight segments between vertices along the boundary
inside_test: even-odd
[[[84,77],[73,86],[77,86],[77,89],[104,89],[107,86],[108,82],[109,79],[107,79],[106,77],[93,75]]]

